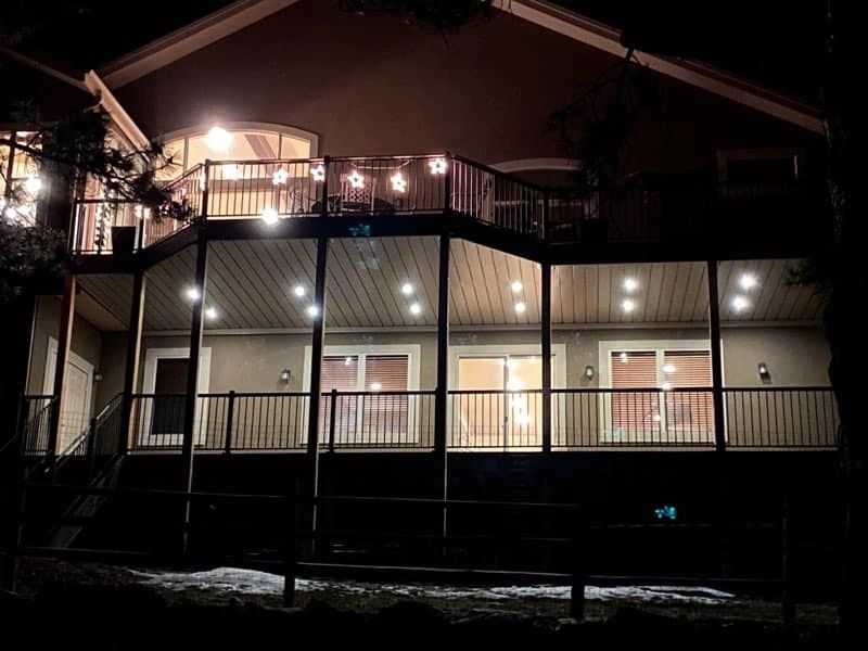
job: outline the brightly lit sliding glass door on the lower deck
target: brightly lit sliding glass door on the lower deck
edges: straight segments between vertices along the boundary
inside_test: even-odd
[[[542,365],[537,355],[459,357],[452,445],[540,446],[541,387]]]

